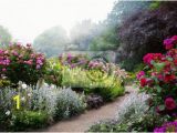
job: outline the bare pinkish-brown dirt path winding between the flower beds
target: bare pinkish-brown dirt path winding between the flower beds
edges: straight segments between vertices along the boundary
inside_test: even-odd
[[[126,86],[126,91],[132,93],[136,91],[132,86]],[[107,103],[97,110],[86,111],[84,114],[74,116],[70,120],[58,122],[56,124],[44,129],[44,132],[84,132],[91,125],[101,120],[114,119],[118,103],[126,99],[128,93],[124,96],[117,98],[114,102]]]

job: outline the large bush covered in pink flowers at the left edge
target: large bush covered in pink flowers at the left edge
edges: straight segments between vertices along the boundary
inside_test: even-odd
[[[45,70],[45,58],[35,53],[31,44],[27,47],[14,43],[0,49],[0,78],[7,78],[12,83],[23,81],[35,84]]]

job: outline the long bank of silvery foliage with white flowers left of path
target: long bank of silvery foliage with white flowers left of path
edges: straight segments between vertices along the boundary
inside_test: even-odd
[[[15,109],[13,98],[18,94],[20,95],[21,110],[45,111],[50,119],[53,119],[56,113],[64,113],[67,116],[73,109],[77,111],[85,109],[84,94],[79,95],[70,88],[60,89],[46,83],[37,84],[34,88],[19,82],[18,89],[8,86],[0,90],[0,111],[3,110],[4,115],[13,114]],[[56,112],[60,108],[56,105],[61,101],[64,103],[61,108],[64,110]]]

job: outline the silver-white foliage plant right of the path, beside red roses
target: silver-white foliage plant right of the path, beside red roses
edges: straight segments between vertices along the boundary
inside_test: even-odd
[[[147,110],[148,105],[146,101],[149,95],[145,93],[133,92],[131,93],[118,106],[116,112],[116,121],[124,121],[129,119],[132,115],[143,115]]]

